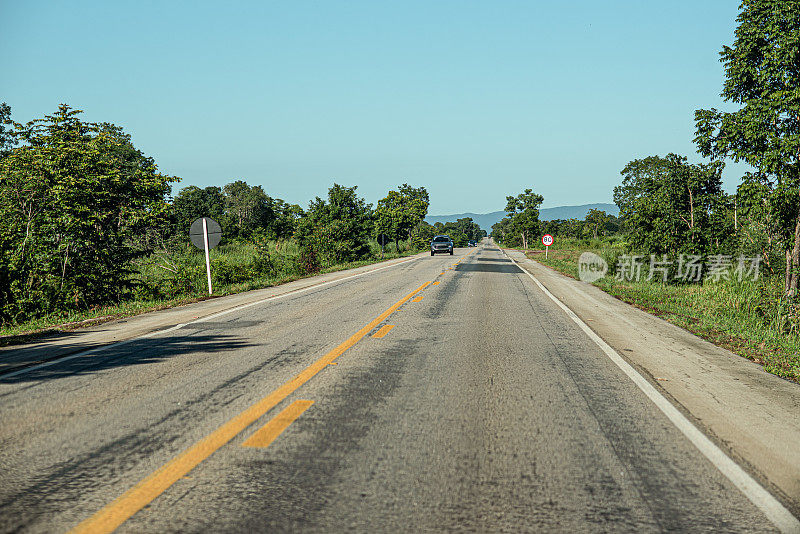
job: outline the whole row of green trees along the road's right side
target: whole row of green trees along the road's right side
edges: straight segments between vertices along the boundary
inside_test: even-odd
[[[706,163],[683,155],[629,162],[614,188],[619,219],[590,213],[585,221],[538,220],[541,195],[508,197],[508,217],[492,235],[529,247],[531,236],[597,237],[619,231],[644,254],[758,257],[784,277],[784,295],[798,294],[800,273],[800,0],[744,0],[732,46],[720,52],[722,97],[736,111],[699,109],[694,142]],[[722,189],[726,160],[745,162],[734,193]],[[578,224],[580,223],[580,224]]]

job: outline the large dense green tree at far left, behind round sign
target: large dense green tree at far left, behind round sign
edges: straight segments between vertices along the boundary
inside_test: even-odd
[[[4,322],[122,297],[132,234],[161,224],[170,182],[118,128],[66,105],[15,124],[22,145],[0,161]]]

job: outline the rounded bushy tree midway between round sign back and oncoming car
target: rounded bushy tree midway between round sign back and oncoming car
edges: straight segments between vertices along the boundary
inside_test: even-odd
[[[356,194],[357,188],[333,184],[327,202],[319,197],[312,200],[305,217],[297,221],[295,237],[300,246],[328,265],[370,254],[372,206]]]

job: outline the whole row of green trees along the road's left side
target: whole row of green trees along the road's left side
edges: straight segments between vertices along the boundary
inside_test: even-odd
[[[122,128],[81,119],[60,105],[21,124],[0,105],[0,322],[20,322],[132,298],[136,262],[157,250],[190,247],[198,217],[220,222],[224,239],[289,241],[301,274],[369,258],[381,236],[423,249],[437,233],[459,246],[480,234],[472,220],[431,226],[425,187],[402,184],[377,207],[357,187],[333,184],[303,209],[235,180],[189,186],[159,172]],[[485,233],[484,233],[485,235]]]

